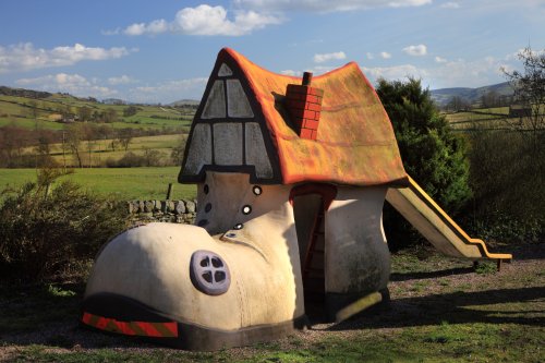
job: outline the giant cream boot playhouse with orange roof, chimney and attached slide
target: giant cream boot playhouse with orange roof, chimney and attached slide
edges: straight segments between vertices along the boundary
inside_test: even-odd
[[[108,242],[87,283],[83,324],[216,350],[302,328],[305,300],[343,319],[387,291],[387,195],[443,252],[510,258],[488,254],[419,194],[353,62],[301,80],[222,49],[179,181],[197,184],[196,226],[149,223]]]

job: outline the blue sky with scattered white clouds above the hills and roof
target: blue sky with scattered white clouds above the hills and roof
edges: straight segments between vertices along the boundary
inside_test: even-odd
[[[218,51],[269,71],[355,61],[429,89],[505,82],[545,49],[545,0],[17,0],[0,2],[0,85],[98,99],[201,99]]]

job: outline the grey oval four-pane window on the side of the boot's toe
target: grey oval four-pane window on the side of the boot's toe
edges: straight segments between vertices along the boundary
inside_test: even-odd
[[[193,286],[208,295],[220,295],[229,290],[231,275],[226,262],[210,251],[193,253],[190,263],[190,278]]]

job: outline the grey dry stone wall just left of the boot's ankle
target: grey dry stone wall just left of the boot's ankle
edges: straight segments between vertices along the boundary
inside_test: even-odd
[[[133,222],[195,222],[196,201],[131,201],[128,202],[129,214]]]

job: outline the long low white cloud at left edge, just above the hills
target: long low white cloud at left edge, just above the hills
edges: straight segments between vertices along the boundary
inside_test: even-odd
[[[32,43],[12,45],[5,48],[0,46],[0,73],[72,65],[85,60],[117,59],[128,56],[131,51],[136,50],[128,50],[124,47],[110,49],[86,47],[81,44],[52,49],[37,49]]]

